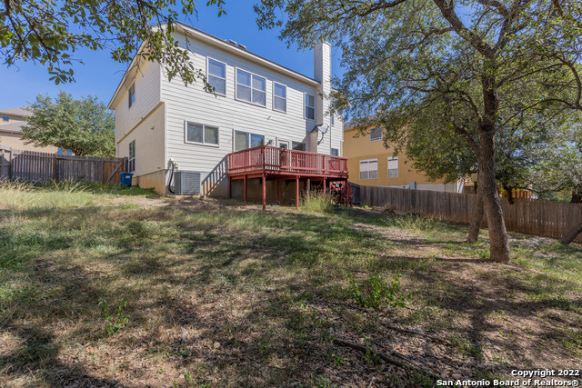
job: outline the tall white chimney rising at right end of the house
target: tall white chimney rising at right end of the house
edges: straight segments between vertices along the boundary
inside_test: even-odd
[[[329,117],[329,96],[331,95],[331,45],[327,42],[318,43],[313,52],[314,78],[320,84],[316,95],[316,124],[328,128],[323,140],[316,146],[316,152],[329,154],[331,152],[331,121]],[[322,134],[319,134],[321,139]]]

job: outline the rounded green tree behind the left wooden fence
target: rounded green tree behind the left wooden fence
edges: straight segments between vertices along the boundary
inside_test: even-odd
[[[77,155],[115,156],[115,116],[96,97],[75,100],[60,92],[55,102],[38,95],[22,127],[26,144],[54,145]]]

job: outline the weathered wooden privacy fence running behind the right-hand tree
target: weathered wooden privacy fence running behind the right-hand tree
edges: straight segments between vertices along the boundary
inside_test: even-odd
[[[360,186],[360,204],[390,207],[438,220],[469,224],[475,194],[442,193],[392,187]],[[516,198],[509,204],[499,198],[507,230],[561,238],[582,220],[582,204]],[[484,220],[487,224],[487,220]],[[575,240],[582,243],[582,235]]]

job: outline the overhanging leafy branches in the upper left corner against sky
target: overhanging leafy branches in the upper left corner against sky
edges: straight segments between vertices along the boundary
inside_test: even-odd
[[[196,14],[196,4],[181,0],[64,1],[5,0],[0,3],[0,55],[6,65],[33,61],[46,65],[55,84],[75,80],[73,55],[85,47],[109,50],[112,58],[129,62],[135,55],[166,67],[168,77],[186,84],[204,78],[189,62],[187,51],[172,36],[180,14]],[[208,0],[218,15],[224,0]],[[138,48],[141,47],[141,50]]]

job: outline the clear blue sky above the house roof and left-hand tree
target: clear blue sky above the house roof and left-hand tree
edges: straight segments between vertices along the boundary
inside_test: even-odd
[[[185,17],[183,22],[219,38],[233,39],[246,45],[253,53],[304,75],[313,76],[313,52],[297,51],[296,46],[287,49],[286,43],[277,39],[277,29],[259,31],[253,11],[254,2],[227,1],[226,15],[220,17],[217,16],[216,7],[207,7],[206,2],[199,4],[198,18],[192,16],[190,20],[186,20]],[[27,102],[35,101],[38,94],[55,97],[59,90],[75,97],[96,95],[105,104],[108,103],[127,64],[115,62],[107,51],[79,50],[74,56],[85,63],[73,66],[76,79],[74,84],[55,85],[48,80],[49,75],[42,65],[18,63],[9,68],[0,65],[0,80],[5,92],[0,94],[0,108],[24,106]],[[340,59],[341,52],[332,47],[333,75],[341,75]]]

